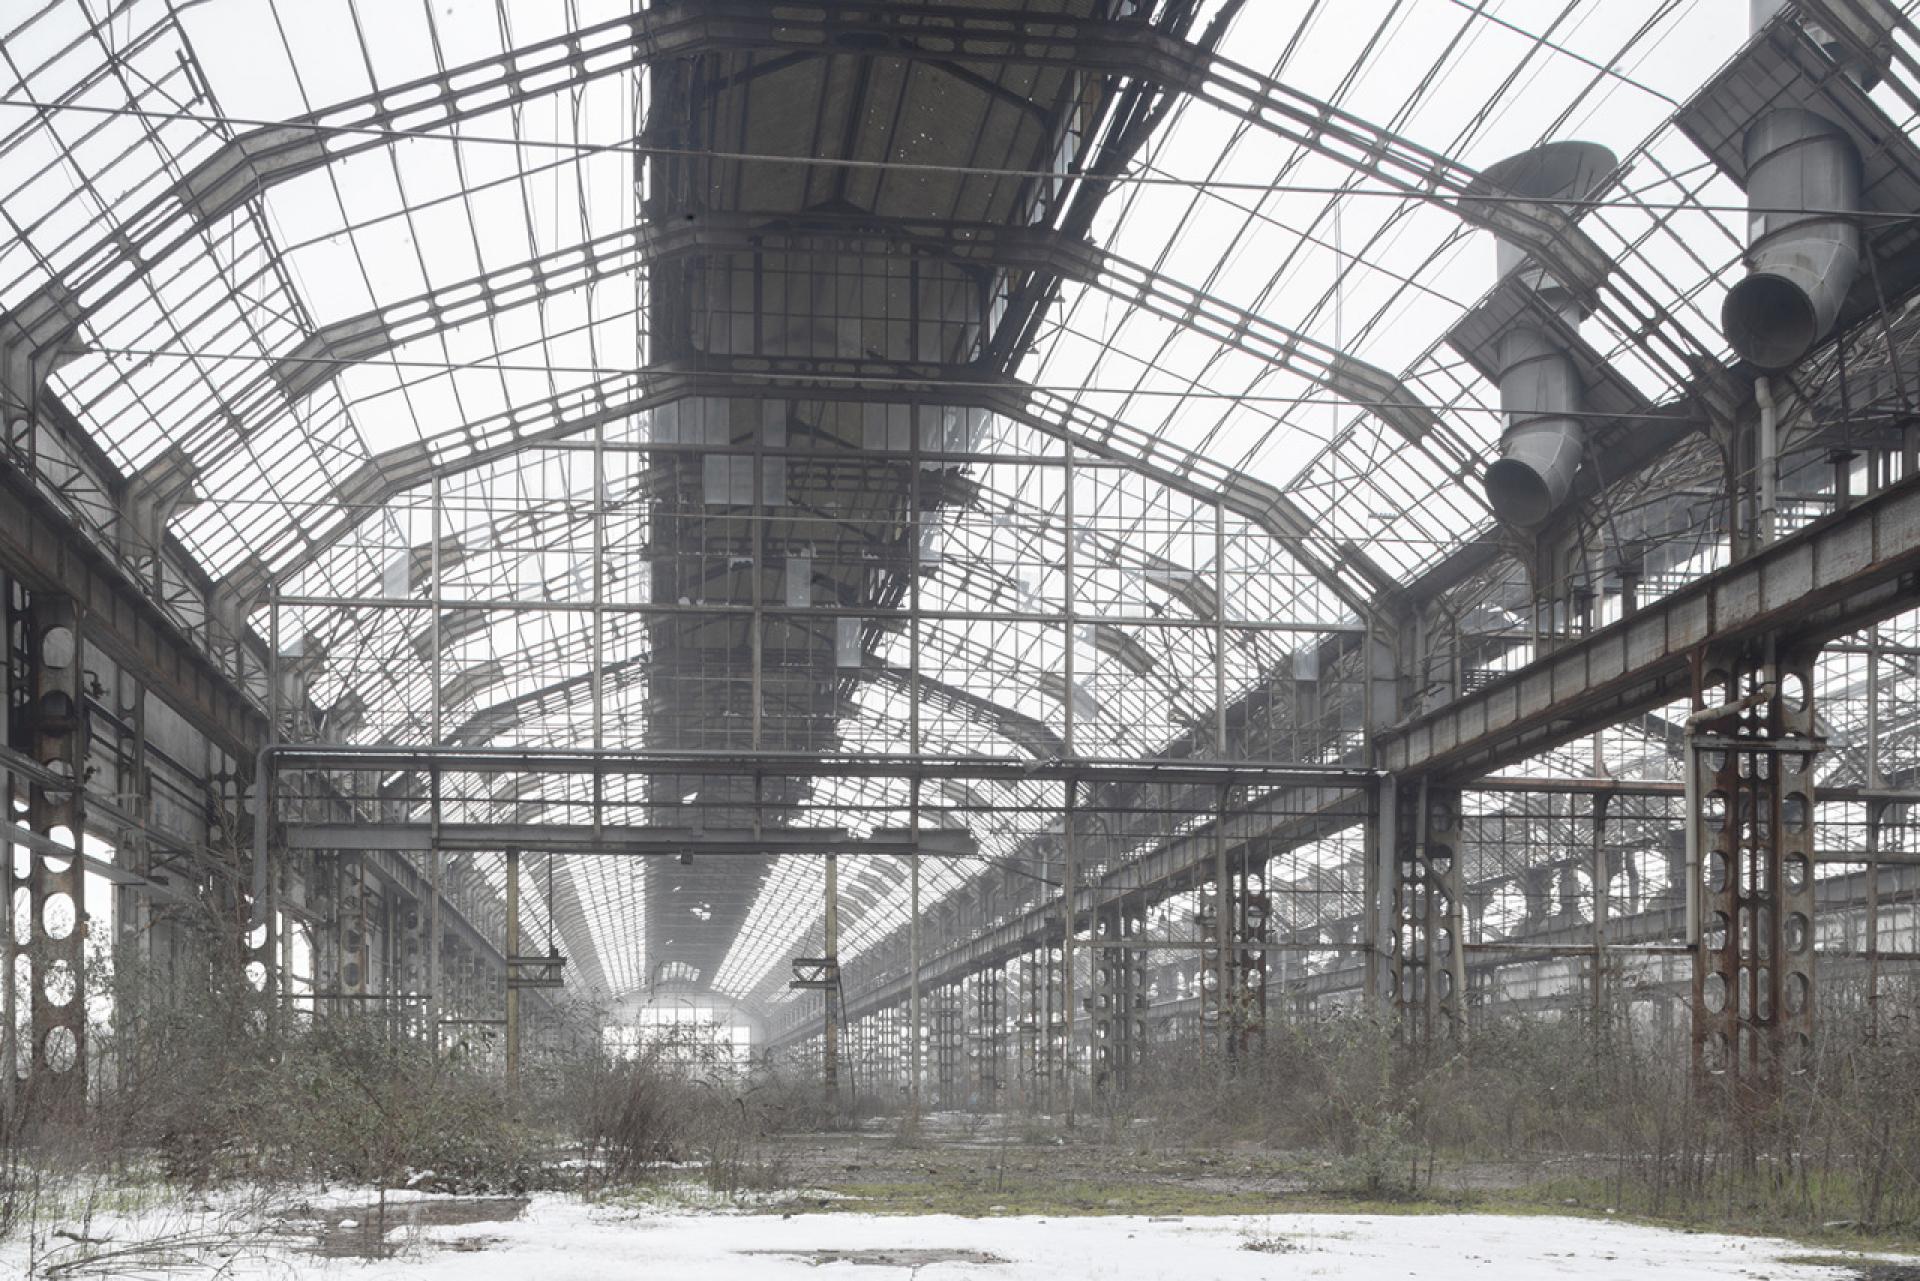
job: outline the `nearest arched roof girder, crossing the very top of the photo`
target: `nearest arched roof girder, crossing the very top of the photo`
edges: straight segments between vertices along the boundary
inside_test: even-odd
[[[885,0],[781,6],[684,0],[467,67],[376,90],[225,144],[163,196],[88,250],[63,288],[79,300],[75,325],[194,234],[267,186],[397,138],[440,131],[605,75],[720,50],[789,50],[801,56],[885,56],[939,63],[1014,63],[1123,75],[1221,108],[1256,129],[1309,148],[1465,221],[1521,244],[1563,286],[1596,298],[1615,263],[1546,202],[1476,200],[1476,173],[1446,156],[1327,102],[1142,23],[1014,15],[964,8],[902,8]],[[1615,303],[1626,332],[1665,332],[1644,292]],[[1596,303],[1597,305],[1597,303]],[[376,334],[376,330],[367,330]],[[67,342],[71,330],[58,336]],[[1690,348],[1674,344],[1684,375]]]

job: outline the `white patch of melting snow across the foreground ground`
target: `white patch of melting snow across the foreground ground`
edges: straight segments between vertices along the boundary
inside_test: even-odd
[[[340,1208],[334,1200],[326,1214]],[[115,1223],[115,1245],[129,1245],[140,1235],[138,1227],[136,1218]],[[1786,1241],[1503,1216],[780,1218],[616,1210],[541,1195],[518,1218],[409,1223],[390,1233],[390,1241],[397,1245],[394,1258],[324,1258],[313,1250],[311,1237],[280,1233],[255,1239],[248,1248],[223,1250],[217,1262],[236,1281],[628,1281],[636,1275],[647,1281],[820,1281],[822,1275],[849,1281],[1837,1281],[1849,1275],[1847,1269],[1782,1262],[1809,1254]],[[17,1246],[0,1248],[0,1277],[25,1275],[23,1262]]]

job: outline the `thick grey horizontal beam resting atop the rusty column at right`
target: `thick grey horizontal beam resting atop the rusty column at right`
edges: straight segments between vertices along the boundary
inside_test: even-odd
[[[1707,640],[1818,645],[1914,603],[1920,478],[1901,480],[1384,736],[1392,774],[1471,778],[1690,691]]]

